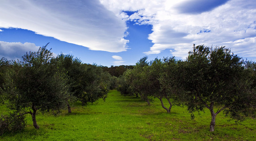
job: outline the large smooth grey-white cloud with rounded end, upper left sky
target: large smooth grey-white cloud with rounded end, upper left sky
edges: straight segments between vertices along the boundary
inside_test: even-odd
[[[22,28],[88,47],[121,52],[127,49],[125,21],[99,0],[4,0],[0,28]]]

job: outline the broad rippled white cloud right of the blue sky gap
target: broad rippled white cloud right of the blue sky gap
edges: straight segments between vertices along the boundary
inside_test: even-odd
[[[185,59],[192,45],[226,46],[242,57],[256,54],[256,0],[100,0],[116,15],[152,25],[145,54],[169,49]],[[121,16],[120,16],[121,17]]]

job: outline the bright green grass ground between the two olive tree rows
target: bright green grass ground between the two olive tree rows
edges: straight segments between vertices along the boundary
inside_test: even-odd
[[[0,106],[0,113],[6,110]],[[113,90],[105,102],[74,103],[72,113],[38,113],[38,130],[28,115],[24,131],[2,135],[0,141],[256,141],[255,119],[235,124],[220,113],[215,131],[209,132],[211,115],[205,112],[191,120],[185,107],[173,106],[168,114],[157,99],[148,106],[140,98],[123,97]]]

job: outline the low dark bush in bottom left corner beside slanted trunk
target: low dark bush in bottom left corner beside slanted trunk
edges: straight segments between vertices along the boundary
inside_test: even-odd
[[[17,112],[1,115],[0,117],[0,135],[5,133],[14,133],[25,128],[25,116]]]

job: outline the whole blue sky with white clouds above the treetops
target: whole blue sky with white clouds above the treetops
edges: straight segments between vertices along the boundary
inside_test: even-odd
[[[0,0],[0,58],[46,45],[83,63],[134,65],[193,44],[256,62],[256,0]]]

